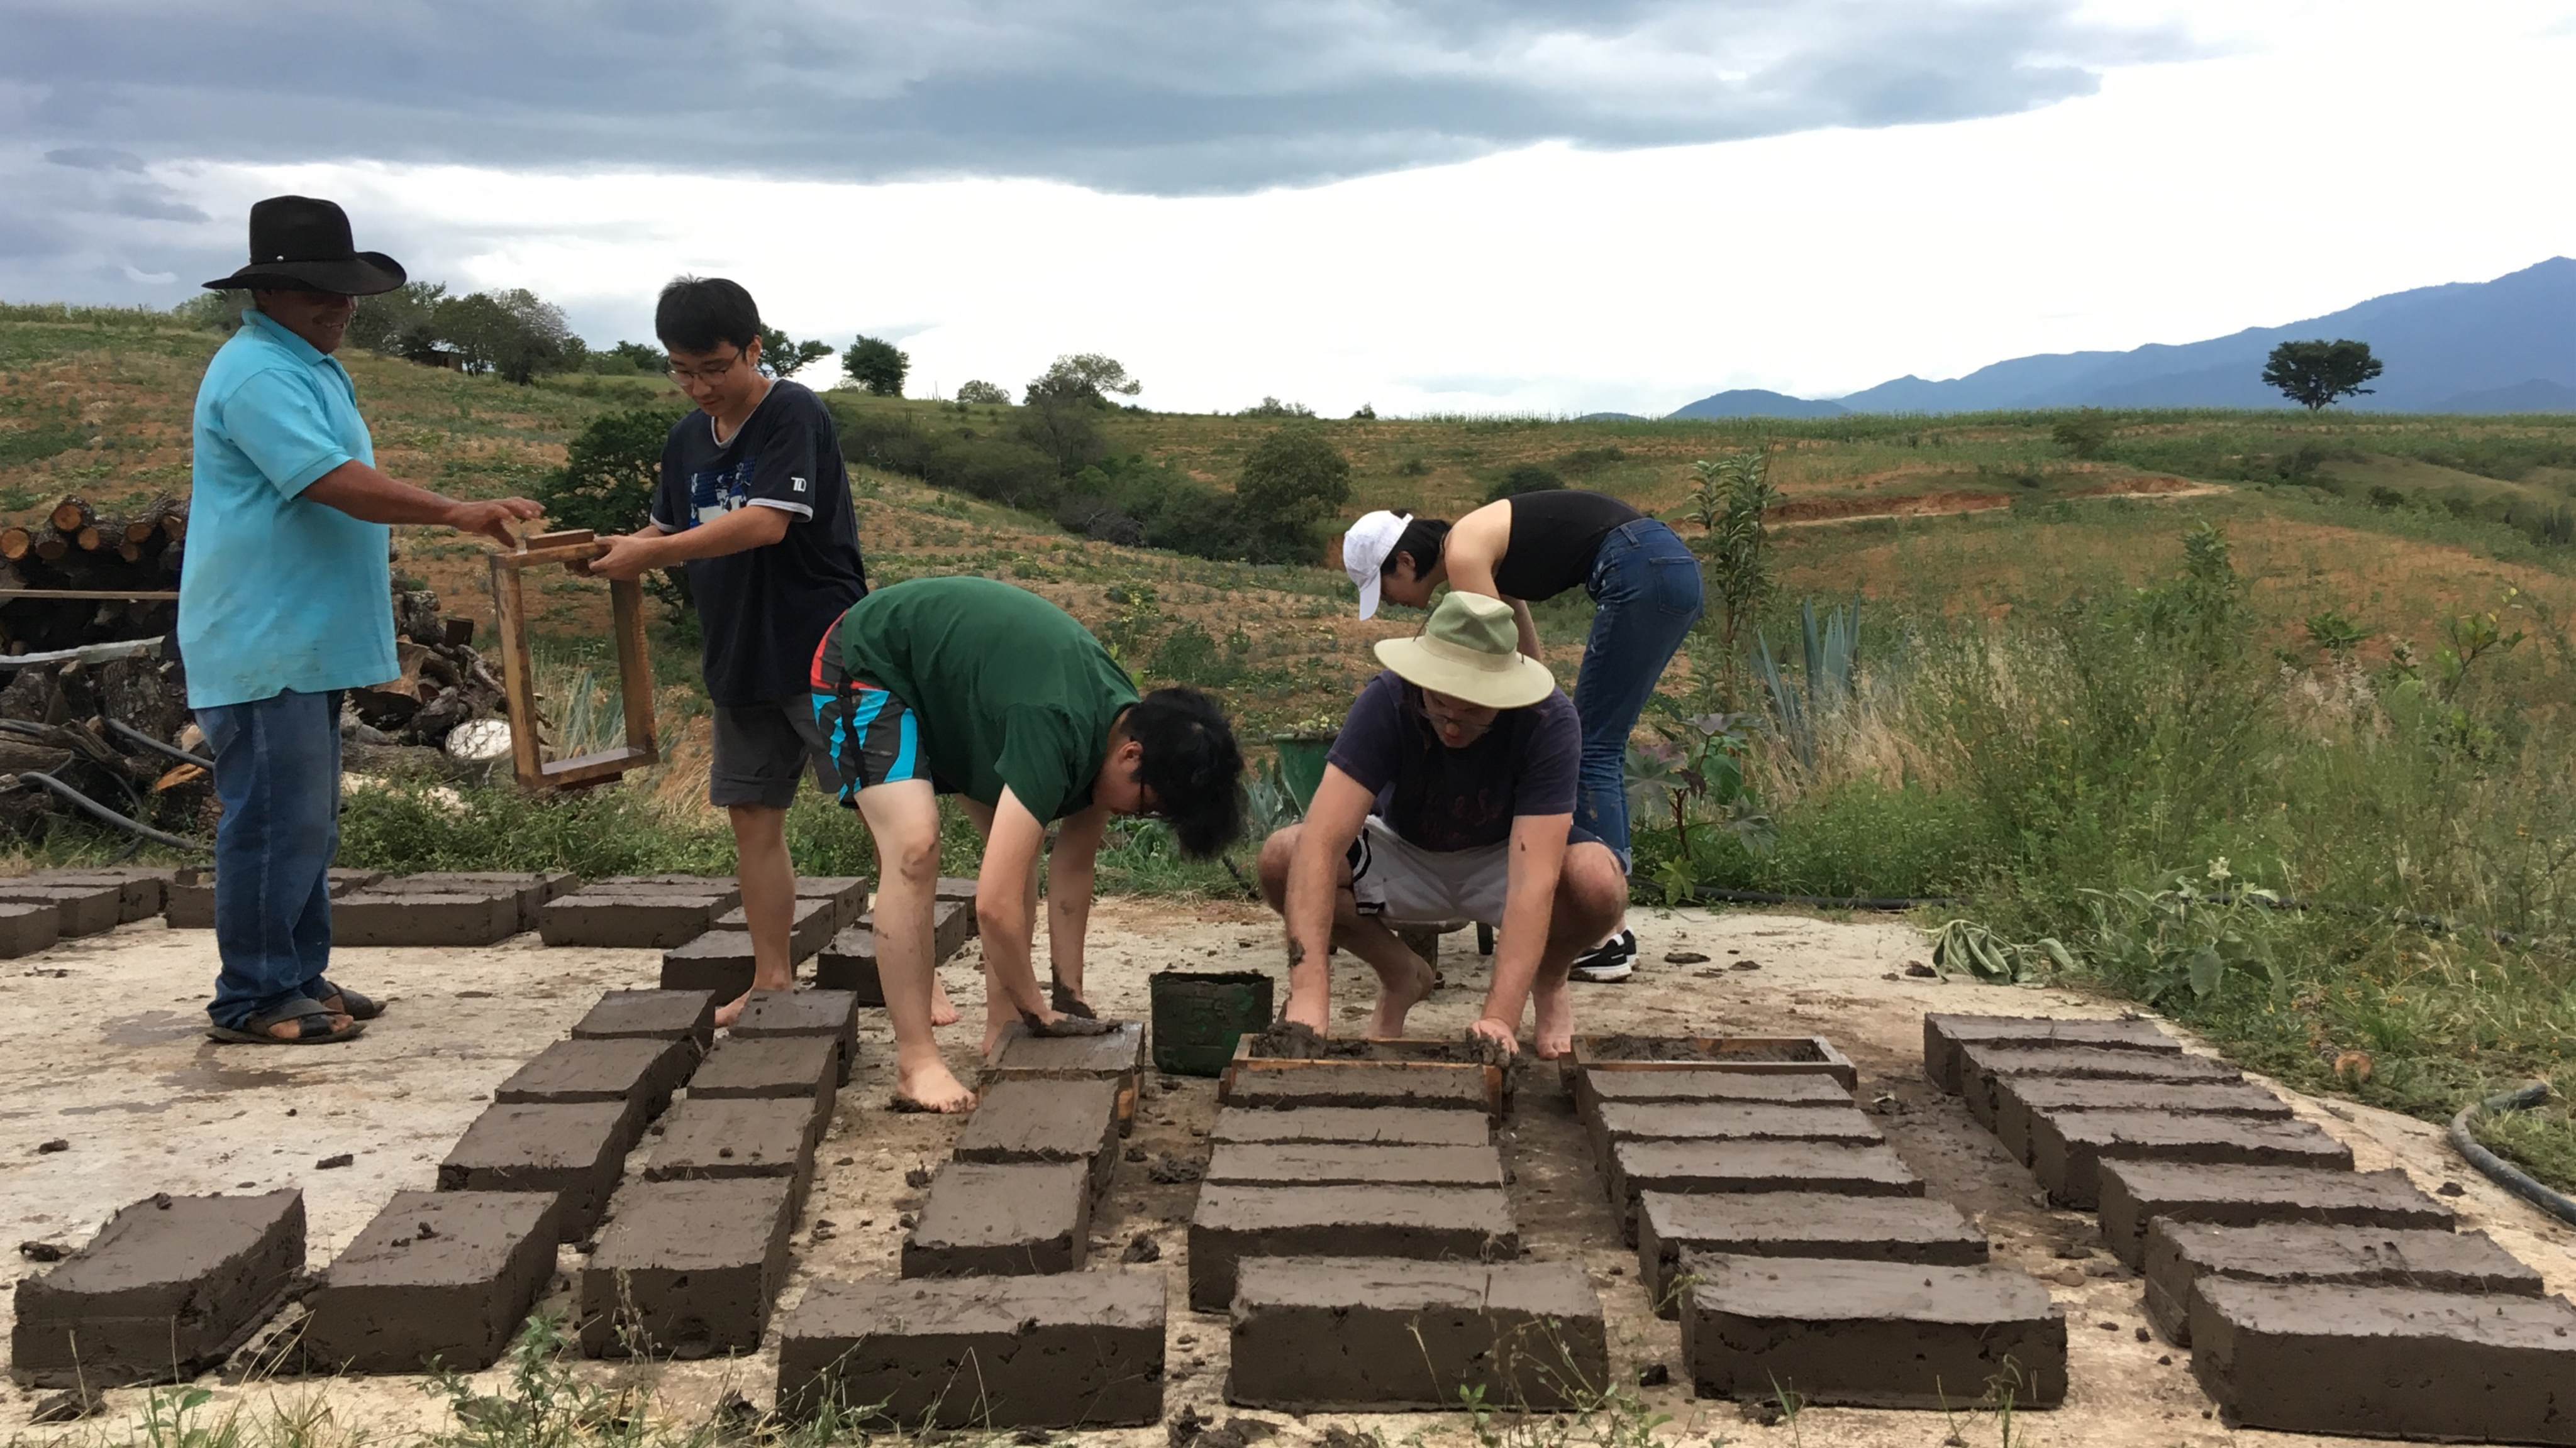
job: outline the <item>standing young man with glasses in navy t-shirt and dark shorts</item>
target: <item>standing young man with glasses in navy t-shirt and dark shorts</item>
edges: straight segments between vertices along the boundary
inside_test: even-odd
[[[587,572],[688,575],[716,706],[708,801],[734,824],[752,989],[793,989],[786,814],[809,763],[827,791],[842,783],[811,732],[806,660],[868,593],[850,477],[822,399],[760,371],[760,307],[750,291],[714,276],[675,278],[662,289],[654,332],[670,350],[670,379],[698,412],[662,443],[652,526],[608,538]],[[747,1002],[726,1002],[716,1023],[732,1025]],[[956,1010],[945,1015],[956,1020]]]

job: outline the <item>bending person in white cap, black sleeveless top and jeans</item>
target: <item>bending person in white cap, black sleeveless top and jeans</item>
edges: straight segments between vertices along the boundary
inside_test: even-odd
[[[1530,603],[1569,587],[1592,595],[1592,634],[1574,678],[1582,776],[1574,822],[1618,855],[1628,850],[1628,734],[1646,698],[1700,621],[1700,559],[1664,523],[1618,497],[1558,487],[1486,502],[1455,526],[1404,513],[1368,513],[1342,533],[1342,569],[1360,587],[1360,618],[1388,598],[1427,608],[1443,582],[1512,608],[1520,652],[1538,660]],[[1623,982],[1636,969],[1636,933],[1610,935],[1574,961],[1577,982]]]

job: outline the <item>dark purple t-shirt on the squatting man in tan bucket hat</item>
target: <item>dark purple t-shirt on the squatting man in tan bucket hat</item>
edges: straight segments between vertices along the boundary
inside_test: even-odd
[[[1394,672],[1368,680],[1332,742],[1337,770],[1378,796],[1376,814],[1425,850],[1476,850],[1512,837],[1517,814],[1574,814],[1584,732],[1553,691],[1504,709],[1473,745],[1450,750],[1422,716],[1422,691]]]

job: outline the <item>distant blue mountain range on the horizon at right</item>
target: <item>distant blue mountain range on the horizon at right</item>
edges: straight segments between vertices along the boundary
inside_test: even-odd
[[[2496,281],[2372,296],[2360,307],[2128,353],[2043,353],[1968,376],[1899,376],[1811,402],[1736,389],[1674,417],[1832,417],[1837,412],[1989,412],[2020,407],[2290,407],[2262,384],[2275,345],[2352,338],[2388,366],[2344,407],[2375,412],[2576,412],[2576,260],[2550,258]]]

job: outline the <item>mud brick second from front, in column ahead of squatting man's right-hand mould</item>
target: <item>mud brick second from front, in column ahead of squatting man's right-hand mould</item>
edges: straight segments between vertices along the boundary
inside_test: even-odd
[[[1646,1301],[1674,1317],[1685,1252],[1728,1257],[1850,1257],[1973,1268],[1986,1234],[1947,1201],[1754,1190],[1682,1196],[1651,1190],[1636,1203],[1636,1265]]]

